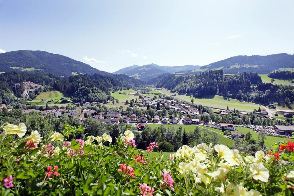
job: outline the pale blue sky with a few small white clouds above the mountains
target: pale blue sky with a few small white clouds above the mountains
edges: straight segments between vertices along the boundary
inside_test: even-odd
[[[108,72],[293,54],[293,8],[293,0],[0,0],[0,53],[42,50]]]

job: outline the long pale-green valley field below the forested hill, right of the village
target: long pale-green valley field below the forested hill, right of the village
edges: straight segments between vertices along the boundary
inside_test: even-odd
[[[171,95],[174,93],[171,93],[167,89],[161,89],[160,91],[163,94]],[[177,94],[177,93],[176,93]],[[185,96],[185,95],[178,95],[175,96],[175,98],[178,98],[183,101],[187,101],[191,103],[192,97]],[[224,98],[222,96],[206,96],[203,98],[193,98],[194,103],[198,105],[204,105],[211,108],[217,108],[221,110],[226,110],[227,106],[229,106],[230,110],[233,110],[234,108],[236,110],[245,111],[245,112],[252,112],[254,109],[258,109],[260,106],[255,103],[249,103],[245,101],[240,101],[232,98]]]

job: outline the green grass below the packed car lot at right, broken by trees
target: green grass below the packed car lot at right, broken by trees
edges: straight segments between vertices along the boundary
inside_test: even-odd
[[[237,131],[239,133],[243,133],[244,135],[248,132],[250,132],[252,134],[252,138],[257,140],[258,139],[258,133],[256,133],[255,131],[253,131],[252,129],[250,128],[246,128],[246,127],[235,127],[237,129]],[[287,140],[287,141],[291,141],[291,142],[294,142],[294,138],[281,138],[281,137],[276,137],[276,136],[270,136],[270,135],[267,135],[265,136],[265,145],[266,147],[270,148],[273,143],[276,143],[278,141],[282,141],[282,140]]]

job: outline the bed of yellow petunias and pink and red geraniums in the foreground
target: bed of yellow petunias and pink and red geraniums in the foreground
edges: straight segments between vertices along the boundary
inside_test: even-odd
[[[127,130],[112,145],[109,135],[75,138],[82,127],[65,125],[42,141],[38,131],[4,124],[0,134],[2,195],[292,195],[294,145],[241,155],[225,145],[182,146],[168,161],[151,159],[151,143],[137,150]],[[14,138],[17,135],[17,138]]]

